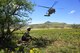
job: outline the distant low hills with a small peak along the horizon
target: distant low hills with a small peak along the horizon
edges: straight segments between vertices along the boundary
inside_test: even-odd
[[[43,24],[32,24],[32,28],[80,28],[80,24],[67,24],[47,21]]]

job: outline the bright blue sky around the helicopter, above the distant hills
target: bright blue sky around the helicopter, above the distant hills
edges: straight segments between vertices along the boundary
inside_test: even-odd
[[[58,2],[53,6],[56,10],[55,14],[50,17],[44,16],[48,8],[38,5],[51,7],[55,1]],[[31,24],[40,24],[46,21],[80,24],[80,0],[31,0],[31,2],[36,4],[34,12],[30,14]]]

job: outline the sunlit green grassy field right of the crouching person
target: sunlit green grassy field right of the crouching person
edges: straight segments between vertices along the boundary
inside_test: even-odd
[[[40,48],[41,53],[80,53],[80,29],[31,30],[30,35],[51,40],[49,45]]]

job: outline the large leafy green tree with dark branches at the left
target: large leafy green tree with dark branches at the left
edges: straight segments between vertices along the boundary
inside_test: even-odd
[[[31,20],[28,13],[33,6],[29,0],[0,0],[0,44],[10,41],[13,32]]]

